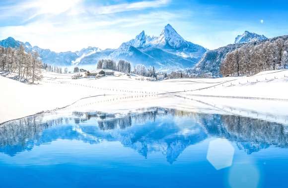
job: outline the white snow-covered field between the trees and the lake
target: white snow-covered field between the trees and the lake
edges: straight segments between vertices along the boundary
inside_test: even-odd
[[[71,79],[72,74],[43,74],[44,79],[36,85],[0,76],[0,123],[64,106],[68,106],[65,110],[109,112],[161,106],[217,113],[231,113],[232,109],[232,113],[258,111],[281,117],[288,114],[288,70],[261,72],[251,77],[160,82],[121,74],[77,80]]]

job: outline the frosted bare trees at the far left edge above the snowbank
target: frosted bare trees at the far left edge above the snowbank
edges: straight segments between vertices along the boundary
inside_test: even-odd
[[[18,74],[18,79],[26,79],[34,83],[41,80],[42,62],[37,52],[25,52],[23,46],[19,48],[0,47],[0,70]]]

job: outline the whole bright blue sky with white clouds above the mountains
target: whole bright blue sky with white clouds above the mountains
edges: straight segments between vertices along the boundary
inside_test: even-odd
[[[0,40],[55,51],[117,48],[170,23],[187,41],[215,49],[245,30],[288,35],[285,0],[1,0]],[[263,21],[261,21],[263,20]]]

